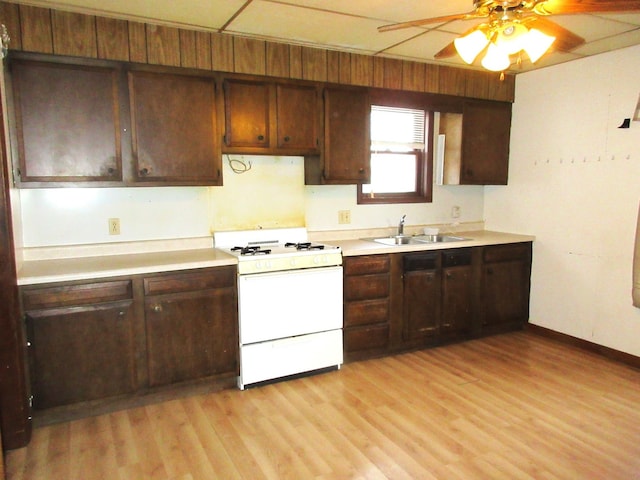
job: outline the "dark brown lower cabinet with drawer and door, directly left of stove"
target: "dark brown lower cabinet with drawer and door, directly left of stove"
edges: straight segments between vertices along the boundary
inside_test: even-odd
[[[237,373],[235,267],[144,279],[149,386]]]

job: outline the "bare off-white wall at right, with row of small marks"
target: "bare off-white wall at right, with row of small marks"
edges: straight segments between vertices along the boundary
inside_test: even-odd
[[[531,323],[636,356],[639,73],[636,46],[518,75],[509,185],[485,189],[486,228],[537,237]]]

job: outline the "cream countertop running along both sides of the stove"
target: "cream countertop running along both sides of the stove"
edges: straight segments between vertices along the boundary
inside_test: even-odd
[[[469,240],[424,245],[387,246],[360,239],[324,240],[339,246],[346,257],[381,253],[402,253],[460,247],[478,247],[505,243],[532,242],[531,235],[491,232],[486,230],[456,232]],[[215,248],[105,254],[53,259],[32,259],[22,262],[18,271],[18,285],[35,285],[73,280],[150,274],[194,268],[236,265],[237,259]]]

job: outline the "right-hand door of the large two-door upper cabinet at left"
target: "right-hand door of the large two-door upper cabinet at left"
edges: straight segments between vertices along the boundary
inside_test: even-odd
[[[220,185],[215,81],[129,72],[133,179],[171,185]]]

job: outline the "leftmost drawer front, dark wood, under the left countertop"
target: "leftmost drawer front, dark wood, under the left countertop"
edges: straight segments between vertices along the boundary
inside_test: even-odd
[[[132,298],[130,280],[22,290],[22,302],[27,311],[113,302],[130,298]]]

